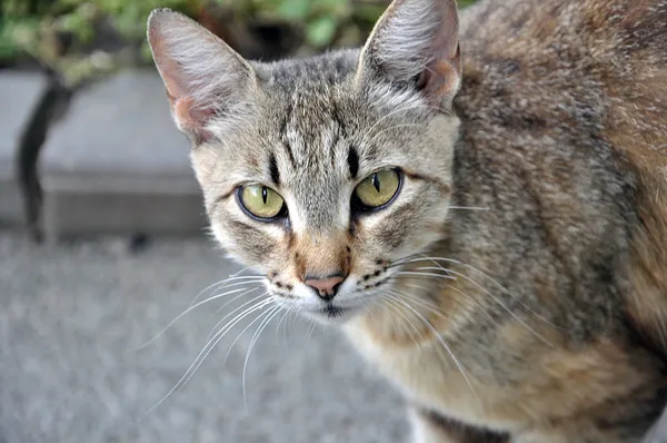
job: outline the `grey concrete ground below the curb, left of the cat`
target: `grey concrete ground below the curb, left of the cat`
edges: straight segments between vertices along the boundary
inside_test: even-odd
[[[145,414],[240,301],[219,312],[233,295],[207,303],[137,347],[236,269],[205,239],[133,254],[127,239],[33,246],[0,233],[0,442],[407,441],[402,401],[341,334],[309,334],[295,318],[277,331],[279,316],[248,360],[246,401],[243,365],[261,321],[231,347],[249,322],[240,323],[182,391]]]

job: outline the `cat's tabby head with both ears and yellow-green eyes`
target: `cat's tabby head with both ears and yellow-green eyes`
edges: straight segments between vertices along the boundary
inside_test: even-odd
[[[361,50],[242,59],[156,10],[149,42],[211,228],[271,296],[346,319],[441,240],[460,85],[455,0],[397,0]]]

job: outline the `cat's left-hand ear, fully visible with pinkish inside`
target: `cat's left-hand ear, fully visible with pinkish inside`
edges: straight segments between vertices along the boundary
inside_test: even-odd
[[[178,128],[206,140],[211,118],[246,100],[255,71],[212,32],[168,9],[150,13],[148,42]]]

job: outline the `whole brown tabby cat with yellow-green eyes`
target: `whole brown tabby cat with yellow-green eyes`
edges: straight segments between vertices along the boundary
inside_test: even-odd
[[[630,443],[667,403],[667,0],[396,0],[360,49],[148,39],[211,230],[412,441]]]

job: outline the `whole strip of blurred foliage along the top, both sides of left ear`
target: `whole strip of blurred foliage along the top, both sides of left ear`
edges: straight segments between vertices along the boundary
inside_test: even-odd
[[[474,0],[459,0],[461,6]],[[0,0],[0,62],[23,57],[77,85],[119,66],[145,62],[146,19],[157,7],[181,11],[242,45],[242,27],[282,24],[298,50],[359,45],[389,0]],[[231,36],[233,39],[233,36]],[[108,40],[117,42],[109,47]],[[118,45],[122,42],[122,45]],[[232,45],[233,46],[233,45]]]

